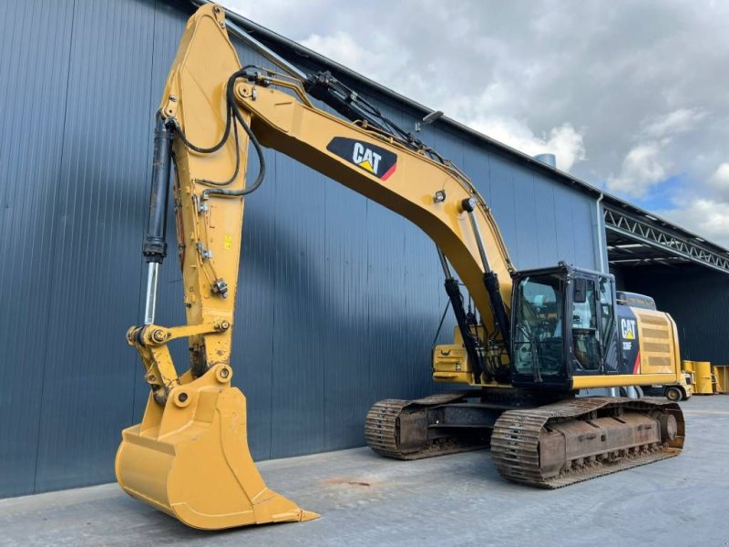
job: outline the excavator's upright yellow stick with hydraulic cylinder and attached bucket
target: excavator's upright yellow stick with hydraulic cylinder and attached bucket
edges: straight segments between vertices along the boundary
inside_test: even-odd
[[[249,142],[236,123],[248,129],[250,115],[236,112],[231,121],[227,85],[240,68],[223,10],[201,7],[180,40],[157,118],[144,245],[145,325],[127,334],[151,389],[142,422],[122,432],[115,466],[128,494],[204,530],[319,516],[266,487],[248,448],[246,399],[231,387]],[[162,327],[153,323],[173,158],[187,325]],[[175,338],[189,339],[190,370],[180,376],[167,346]]]

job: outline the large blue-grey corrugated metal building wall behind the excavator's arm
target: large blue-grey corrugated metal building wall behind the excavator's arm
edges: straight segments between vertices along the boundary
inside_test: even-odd
[[[162,0],[33,0],[3,13],[0,496],[9,496],[113,480],[119,431],[144,408],[124,335],[141,314],[152,117],[190,12]],[[241,60],[262,63],[244,50]],[[476,181],[519,267],[598,267],[592,198],[506,152],[434,127],[422,136]],[[376,203],[280,154],[267,159],[270,175],[246,207],[233,351],[252,452],[358,446],[375,400],[433,389],[428,354],[447,300],[436,253]],[[161,290],[158,322],[179,324],[174,257]],[[185,347],[174,350],[184,364]]]

